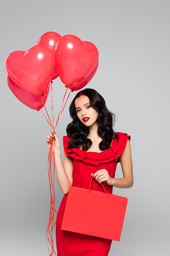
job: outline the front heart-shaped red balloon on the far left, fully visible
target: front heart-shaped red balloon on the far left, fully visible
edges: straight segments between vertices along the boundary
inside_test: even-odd
[[[46,92],[55,68],[55,57],[45,45],[35,45],[27,52],[16,51],[5,60],[11,79],[35,95]]]

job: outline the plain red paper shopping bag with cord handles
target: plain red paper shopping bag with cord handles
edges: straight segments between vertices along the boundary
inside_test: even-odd
[[[106,191],[71,186],[61,229],[120,241],[127,203]]]

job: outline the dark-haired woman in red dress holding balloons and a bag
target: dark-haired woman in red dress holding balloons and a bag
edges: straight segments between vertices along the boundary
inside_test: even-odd
[[[101,182],[108,193],[112,193],[113,186],[133,186],[130,136],[113,131],[114,114],[106,108],[103,97],[93,89],[78,92],[69,111],[73,121],[68,124],[67,136],[63,138],[64,165],[57,135],[52,132],[47,136],[49,148],[54,138],[56,176],[65,194],[56,222],[57,255],[107,256],[112,240],[64,231],[61,224],[70,186],[87,189],[91,175],[96,179],[92,181],[92,190],[103,192]],[[114,178],[118,162],[123,172],[121,179]],[[99,219],[99,225],[101,221]]]

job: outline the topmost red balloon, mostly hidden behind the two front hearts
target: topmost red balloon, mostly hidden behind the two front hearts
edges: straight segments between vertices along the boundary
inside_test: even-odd
[[[56,33],[56,32],[46,32],[45,34],[43,34],[43,36],[40,37],[40,39],[38,40],[37,44],[36,45],[39,45],[39,44],[43,44],[43,45],[46,45],[47,47],[50,48],[50,50],[53,52],[55,52],[55,46],[56,46],[56,43],[58,42],[58,40],[61,38],[61,36]],[[51,78],[51,80],[54,80],[58,77],[58,70],[57,70],[57,67],[55,65],[55,70],[54,70],[54,73],[53,73],[53,76]]]

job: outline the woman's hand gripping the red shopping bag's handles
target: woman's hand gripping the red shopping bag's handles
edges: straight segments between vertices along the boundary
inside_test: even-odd
[[[111,176],[108,174],[108,172],[106,171],[106,169],[102,169],[97,171],[94,174],[91,174],[91,176],[94,176],[96,181],[98,181],[98,183],[106,183],[107,185],[114,185],[114,183],[116,182],[114,179],[111,178]]]

